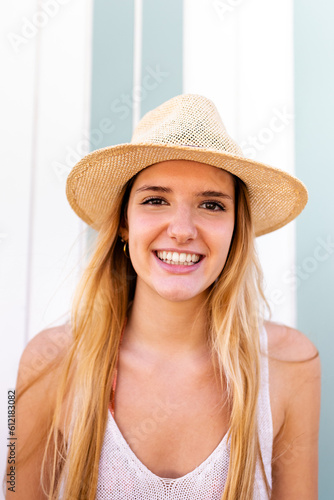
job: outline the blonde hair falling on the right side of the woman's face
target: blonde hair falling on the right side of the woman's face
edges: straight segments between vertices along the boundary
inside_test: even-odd
[[[260,337],[263,307],[262,271],[258,263],[247,189],[237,180],[233,240],[221,279],[211,292],[210,338],[226,381],[231,408],[230,464],[222,500],[253,498],[254,475],[260,461],[267,491],[257,429],[260,387]]]

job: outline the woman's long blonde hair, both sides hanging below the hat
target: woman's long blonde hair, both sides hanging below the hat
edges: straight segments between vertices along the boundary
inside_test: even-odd
[[[71,318],[73,343],[64,359],[41,477],[49,500],[94,500],[112,378],[136,274],[119,238],[133,180],[101,228],[79,284]],[[253,496],[259,458],[261,272],[248,193],[235,178],[236,219],[229,255],[207,300],[212,359],[228,389],[230,467],[223,500]],[[64,416],[64,400],[71,401]]]

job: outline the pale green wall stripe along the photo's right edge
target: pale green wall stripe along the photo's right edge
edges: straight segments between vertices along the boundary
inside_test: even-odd
[[[298,328],[322,359],[319,498],[328,500],[334,498],[334,3],[295,0],[294,10],[296,169],[310,194],[297,222]]]

